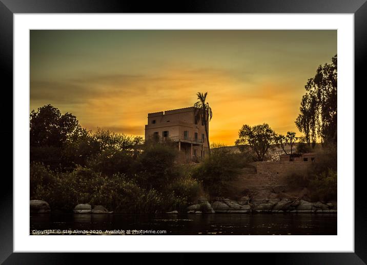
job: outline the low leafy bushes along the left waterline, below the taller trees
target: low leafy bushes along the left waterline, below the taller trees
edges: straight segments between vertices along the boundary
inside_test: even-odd
[[[186,207],[200,190],[191,178],[181,178],[166,191],[157,191],[141,188],[125,174],[103,177],[83,167],[60,173],[32,163],[30,173],[31,199],[46,200],[54,210],[71,211],[78,203],[90,203],[121,213],[172,211]]]

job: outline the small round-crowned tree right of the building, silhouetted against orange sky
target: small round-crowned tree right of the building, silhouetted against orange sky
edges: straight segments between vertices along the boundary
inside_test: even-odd
[[[235,145],[249,145],[256,153],[258,160],[263,161],[268,149],[275,143],[276,136],[269,124],[260,124],[253,127],[246,124],[239,130]]]

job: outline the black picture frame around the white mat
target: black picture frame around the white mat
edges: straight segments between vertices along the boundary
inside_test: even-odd
[[[13,14],[15,13],[353,13],[355,26],[355,87],[362,90],[362,82],[365,79],[365,62],[367,56],[367,3],[366,0],[210,0],[210,1],[181,1],[181,2],[147,2],[138,1],[107,1],[107,0],[0,0],[0,54],[1,76],[3,94],[8,92],[9,98],[13,98],[10,88],[13,87]],[[363,83],[364,85],[365,83]],[[353,89],[353,88],[350,88]],[[354,89],[355,94],[358,92]],[[356,97],[363,100],[363,97]],[[4,100],[4,98],[3,98]],[[4,100],[5,101],[5,100]],[[361,106],[355,103],[355,106]],[[7,108],[9,110],[10,108]],[[355,108],[355,120],[364,120],[363,111]],[[4,108],[2,136],[5,139],[13,138],[13,127],[10,115]],[[358,119],[361,118],[361,119]],[[8,119],[8,120],[6,120]],[[363,139],[362,129],[356,130],[355,139]],[[359,137],[358,137],[359,136]],[[10,145],[10,144],[9,144]],[[5,151],[5,145],[3,145]],[[9,147],[10,150],[10,147]],[[12,150],[12,149],[11,149]],[[11,152],[12,153],[12,152]],[[344,154],[343,154],[344,155]],[[354,155],[355,165],[363,165],[362,157]],[[7,159],[12,155],[7,154]],[[339,156],[340,157],[340,156]],[[4,158],[6,159],[6,158]],[[10,162],[10,161],[9,161]],[[5,162],[3,165],[7,165]],[[5,168],[5,166],[4,166]],[[345,177],[345,176],[344,176]],[[349,176],[354,177],[354,176]],[[247,253],[257,262],[271,262],[275,264],[366,264],[367,263],[367,208],[364,201],[363,174],[355,178],[355,251],[354,253]],[[0,262],[4,264],[66,264],[73,263],[73,253],[13,253],[13,181],[11,174],[2,176],[2,192],[0,199]],[[83,255],[84,263],[97,261],[92,253]],[[108,260],[119,254],[109,255]],[[127,255],[127,254],[123,254]],[[179,256],[175,263],[189,262],[192,254]],[[105,257],[98,258],[106,259]],[[129,258],[128,256],[124,256]],[[246,260],[248,261],[248,258]],[[218,261],[216,255],[207,257]],[[236,257],[231,257],[231,259]],[[167,256],[157,255],[156,259],[165,260]],[[170,259],[170,258],[169,258]],[[141,261],[141,260],[140,260]],[[228,260],[227,260],[228,261]]]

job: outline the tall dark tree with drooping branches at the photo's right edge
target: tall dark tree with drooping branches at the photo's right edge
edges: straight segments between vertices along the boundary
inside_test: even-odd
[[[308,143],[337,142],[337,55],[331,64],[319,66],[304,87],[300,113],[295,121]]]

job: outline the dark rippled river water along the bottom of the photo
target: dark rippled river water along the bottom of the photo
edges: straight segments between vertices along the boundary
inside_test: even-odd
[[[66,235],[336,235],[337,214],[31,214],[30,234],[47,230]]]

